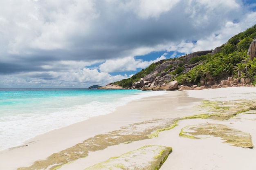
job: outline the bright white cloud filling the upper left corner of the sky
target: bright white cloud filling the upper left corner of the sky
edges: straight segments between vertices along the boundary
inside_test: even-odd
[[[0,5],[4,7],[0,16],[8,16],[1,17],[4,23],[0,26],[8,38],[7,51],[12,54],[29,48],[68,48],[70,36],[88,34],[90,22],[99,16],[91,0],[3,0]]]

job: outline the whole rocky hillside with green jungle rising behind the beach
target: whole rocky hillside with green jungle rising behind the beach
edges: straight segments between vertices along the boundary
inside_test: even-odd
[[[221,80],[228,77],[249,78],[250,82],[255,84],[256,59],[252,57],[255,55],[255,49],[250,49],[251,58],[247,55],[255,38],[256,25],[230,38],[214,51],[198,51],[178,58],[161,60],[132,77],[113,84],[123,88],[147,88],[177,80],[179,85],[204,86],[207,85],[206,82],[220,84]]]

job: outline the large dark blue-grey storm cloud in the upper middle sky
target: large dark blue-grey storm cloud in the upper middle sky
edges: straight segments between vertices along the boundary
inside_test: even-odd
[[[93,57],[107,60],[124,57],[128,55],[127,51],[139,47],[153,47],[183,39],[194,40],[210,34],[225,22],[209,18],[210,22],[194,25],[189,13],[183,12],[183,5],[175,6],[159,18],[148,19],[139,18],[132,11],[120,14],[103,9],[108,9],[108,4],[101,3],[98,9],[101,16],[94,21],[90,35],[70,38],[74,42],[72,49],[80,54],[81,58],[77,56],[78,59],[90,60]],[[114,16],[110,18],[108,13]]]

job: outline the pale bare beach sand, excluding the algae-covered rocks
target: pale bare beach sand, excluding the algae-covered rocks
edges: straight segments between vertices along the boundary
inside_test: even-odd
[[[248,97],[248,94],[251,94],[251,96]],[[198,109],[195,107],[198,106],[203,99],[211,101],[244,100],[246,99],[245,95],[247,95],[247,98],[249,99],[256,99],[255,94],[256,88],[237,87],[202,91],[170,91],[164,95],[142,98],[132,101],[125,106],[118,107],[116,111],[108,115],[92,117],[86,121],[39,135],[38,137],[27,141],[24,147],[16,147],[11,150],[0,151],[0,160],[3,162],[0,163],[0,169],[14,170],[19,167],[31,166],[34,161],[46,159],[51,154],[76,146],[76,144],[82,143],[86,139],[93,138],[96,135],[111,134],[111,132],[115,130],[129,130],[129,128],[126,129],[124,127],[130,127],[131,125],[139,125],[140,130],[144,128],[153,129],[155,125],[153,126],[150,121],[155,119],[159,120],[159,122],[155,123],[157,124],[155,128],[158,128],[158,125],[165,126],[160,123],[163,121],[166,121],[168,124],[180,117],[204,113],[204,111],[206,111],[205,108]],[[251,115],[254,116],[255,114]],[[252,135],[252,142],[255,144],[256,139],[255,136],[253,136],[253,134],[256,134],[255,125],[250,126],[250,128],[245,126],[251,122],[255,123],[255,121],[248,118],[245,119],[240,115],[238,115],[238,117],[240,119],[239,122],[238,119],[233,118],[221,121],[221,123],[228,126],[232,125],[243,131],[249,132]],[[153,139],[134,140],[127,144],[113,144],[103,148],[103,150],[90,151],[85,158],[79,158],[72,161],[70,164],[63,165],[59,169],[83,170],[95,163],[105,161],[110,157],[121,155],[148,144],[170,146],[173,148],[173,152],[160,168],[161,170],[167,170],[169,168],[185,169],[189,168],[188,166],[191,166],[193,169],[202,169],[203,166],[204,169],[213,169],[217,166],[219,169],[224,169],[227,168],[227,166],[223,166],[225,161],[220,160],[219,156],[225,157],[230,161],[232,159],[236,160],[239,157],[234,158],[234,154],[230,155],[230,152],[234,151],[241,154],[248,154],[248,162],[252,160],[253,157],[256,157],[255,148],[247,149],[229,146],[228,144],[222,144],[218,138],[191,140],[179,137],[178,134],[184,126],[205,121],[209,123],[220,123],[220,121],[213,119],[183,119],[177,123],[175,128],[160,132],[158,137]],[[211,144],[211,147],[209,147],[209,144]],[[184,150],[184,148],[186,149]],[[198,153],[195,154],[195,150],[197,150]],[[216,150],[218,150],[218,153]],[[99,155],[101,156],[99,157]],[[195,158],[189,160],[189,157],[190,159],[191,157]],[[196,160],[199,158],[203,160],[204,165],[196,163]],[[211,161],[211,159],[214,159],[214,161]],[[189,161],[191,165],[189,165],[189,163],[187,165],[182,165],[183,161]],[[247,161],[244,160],[243,162],[246,163]],[[255,167],[255,165],[251,165],[250,167],[248,166],[247,169],[253,169]],[[232,168],[238,169],[239,166],[232,166]],[[230,168],[228,167],[227,169]]]

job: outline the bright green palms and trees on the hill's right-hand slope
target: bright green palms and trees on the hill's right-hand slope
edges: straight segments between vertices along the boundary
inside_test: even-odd
[[[256,59],[251,60],[247,55],[250,43],[256,38],[256,25],[235,35],[221,46],[220,53],[193,57],[189,64],[204,61],[186,74],[177,77],[180,84],[198,84],[200,80],[209,79],[218,82],[227,77],[246,77],[255,79]],[[241,75],[238,75],[240,71]],[[256,82],[254,82],[256,84]]]

